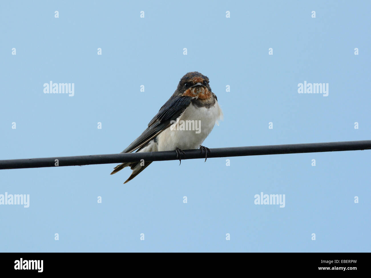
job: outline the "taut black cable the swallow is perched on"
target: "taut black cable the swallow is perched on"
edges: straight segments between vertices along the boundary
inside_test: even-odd
[[[207,158],[250,155],[279,155],[284,153],[340,152],[345,150],[366,149],[371,149],[371,140],[216,148],[210,149],[210,153],[208,153]],[[200,150],[184,150],[184,152],[185,157],[182,159],[205,158],[205,153],[201,153]],[[141,159],[144,159],[144,161],[177,160],[177,156],[175,151],[172,150],[166,152],[134,152],[115,153],[111,155],[55,156],[51,158],[9,159],[0,160],[0,169],[54,167],[55,159],[59,160],[59,166],[75,166],[139,162]]]

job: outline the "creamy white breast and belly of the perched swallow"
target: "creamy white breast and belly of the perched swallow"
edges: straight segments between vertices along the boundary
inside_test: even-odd
[[[218,120],[223,118],[218,102],[210,108],[197,107],[191,104],[169,128],[157,136],[158,151],[198,149],[213,130]],[[194,121],[194,122],[192,122]],[[197,121],[197,122],[196,122]],[[183,125],[182,125],[183,123]],[[193,130],[182,130],[182,129]]]

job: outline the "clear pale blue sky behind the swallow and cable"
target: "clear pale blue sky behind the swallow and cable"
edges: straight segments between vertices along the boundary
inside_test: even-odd
[[[0,159],[121,152],[190,71],[224,112],[209,148],[371,139],[370,1],[173,2],[1,1]],[[74,96],[43,93],[50,81]],[[0,205],[0,251],[370,252],[370,157],[154,162],[125,185],[116,164],[0,170],[0,194],[30,195]]]

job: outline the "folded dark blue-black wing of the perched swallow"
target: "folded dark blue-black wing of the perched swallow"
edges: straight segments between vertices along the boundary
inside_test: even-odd
[[[170,126],[171,120],[176,120],[181,113],[190,105],[191,97],[172,95],[170,99],[162,105],[157,115],[148,123],[148,128],[134,140],[126,149],[122,151],[133,152],[142,148],[146,143],[155,138],[163,130]]]

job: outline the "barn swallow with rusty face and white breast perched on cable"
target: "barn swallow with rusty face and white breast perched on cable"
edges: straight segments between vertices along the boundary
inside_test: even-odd
[[[170,99],[160,108],[157,115],[148,123],[147,129],[121,153],[161,152],[175,150],[181,162],[183,150],[200,149],[205,152],[205,161],[209,148],[201,146],[218,120],[223,118],[216,95],[211,92],[209,78],[199,72],[188,72],[178,84]],[[179,128],[183,123],[200,123],[197,131]],[[191,125],[190,125],[191,126]],[[192,128],[191,128],[192,129]],[[142,172],[152,161],[124,162],[117,165],[111,175],[125,167],[133,172],[124,182],[127,183]]]

